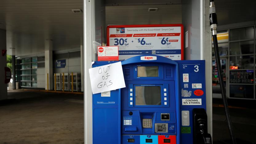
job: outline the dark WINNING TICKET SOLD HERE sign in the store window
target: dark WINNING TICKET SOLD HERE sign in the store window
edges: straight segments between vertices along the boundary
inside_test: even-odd
[[[253,84],[253,70],[230,70],[230,83],[251,83]]]

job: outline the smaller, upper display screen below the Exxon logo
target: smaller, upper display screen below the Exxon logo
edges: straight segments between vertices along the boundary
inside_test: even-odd
[[[158,66],[137,66],[138,77],[158,77]]]

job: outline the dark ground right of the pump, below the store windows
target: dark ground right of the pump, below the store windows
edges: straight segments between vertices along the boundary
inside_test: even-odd
[[[230,116],[235,137],[240,140],[238,144],[256,143],[256,109],[230,108]],[[224,108],[213,107],[214,144],[228,139],[230,139],[230,135]],[[245,140],[247,143],[241,142],[241,140]]]

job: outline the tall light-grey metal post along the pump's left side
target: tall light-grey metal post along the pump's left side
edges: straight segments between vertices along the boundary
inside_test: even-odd
[[[92,89],[89,69],[92,67],[92,2],[83,0],[84,47],[84,143],[92,143]]]

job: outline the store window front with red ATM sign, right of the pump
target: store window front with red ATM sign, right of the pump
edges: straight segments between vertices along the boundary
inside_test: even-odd
[[[217,38],[226,96],[255,99],[255,25],[218,31]],[[220,94],[214,48],[212,53],[213,93]]]

